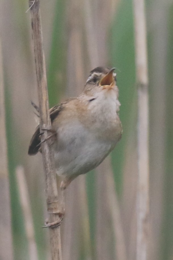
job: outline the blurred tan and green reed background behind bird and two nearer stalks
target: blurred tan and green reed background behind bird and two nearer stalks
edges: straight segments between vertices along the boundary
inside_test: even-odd
[[[107,65],[116,67],[121,103],[121,141],[102,165],[79,176],[65,191],[63,260],[134,260],[137,90],[132,0],[41,0],[40,7],[50,107],[78,95],[90,70]],[[173,260],[173,1],[146,0],[145,7],[150,117],[149,259]],[[38,123],[31,100],[38,104],[38,99],[27,9],[27,1],[1,0],[0,98],[4,91],[6,120],[4,125],[0,113],[1,260],[12,259],[12,255],[14,260],[49,259],[48,231],[42,228],[47,218],[42,157],[28,156],[28,144]],[[30,207],[22,202],[17,178],[20,174],[25,176],[24,193],[28,192]],[[27,216],[32,216],[29,222]],[[32,248],[35,254],[31,257]]]

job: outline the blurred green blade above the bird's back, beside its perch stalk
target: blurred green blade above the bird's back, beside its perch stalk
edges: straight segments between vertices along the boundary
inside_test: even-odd
[[[47,72],[50,107],[59,102],[66,87],[66,34],[65,34],[66,1],[55,2],[52,42]]]

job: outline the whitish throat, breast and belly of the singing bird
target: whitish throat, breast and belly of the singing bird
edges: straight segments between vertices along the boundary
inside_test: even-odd
[[[115,92],[98,93],[89,103],[87,120],[72,118],[57,129],[55,164],[58,175],[84,174],[98,166],[119,140],[117,115],[120,103]]]

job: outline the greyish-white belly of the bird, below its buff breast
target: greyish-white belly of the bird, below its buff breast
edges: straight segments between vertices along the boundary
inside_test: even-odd
[[[97,167],[116,145],[118,138],[104,140],[79,123],[59,129],[55,149],[55,168],[59,176],[85,174]]]

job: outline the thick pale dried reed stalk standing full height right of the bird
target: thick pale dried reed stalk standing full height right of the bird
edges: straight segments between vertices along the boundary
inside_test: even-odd
[[[136,259],[146,260],[149,241],[148,70],[145,9],[134,0],[136,81],[138,88],[138,187]]]

